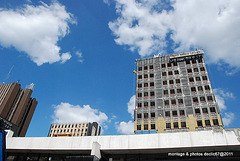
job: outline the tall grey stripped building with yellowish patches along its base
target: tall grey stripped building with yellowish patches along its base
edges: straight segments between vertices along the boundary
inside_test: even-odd
[[[223,128],[203,54],[137,60],[135,134]]]

